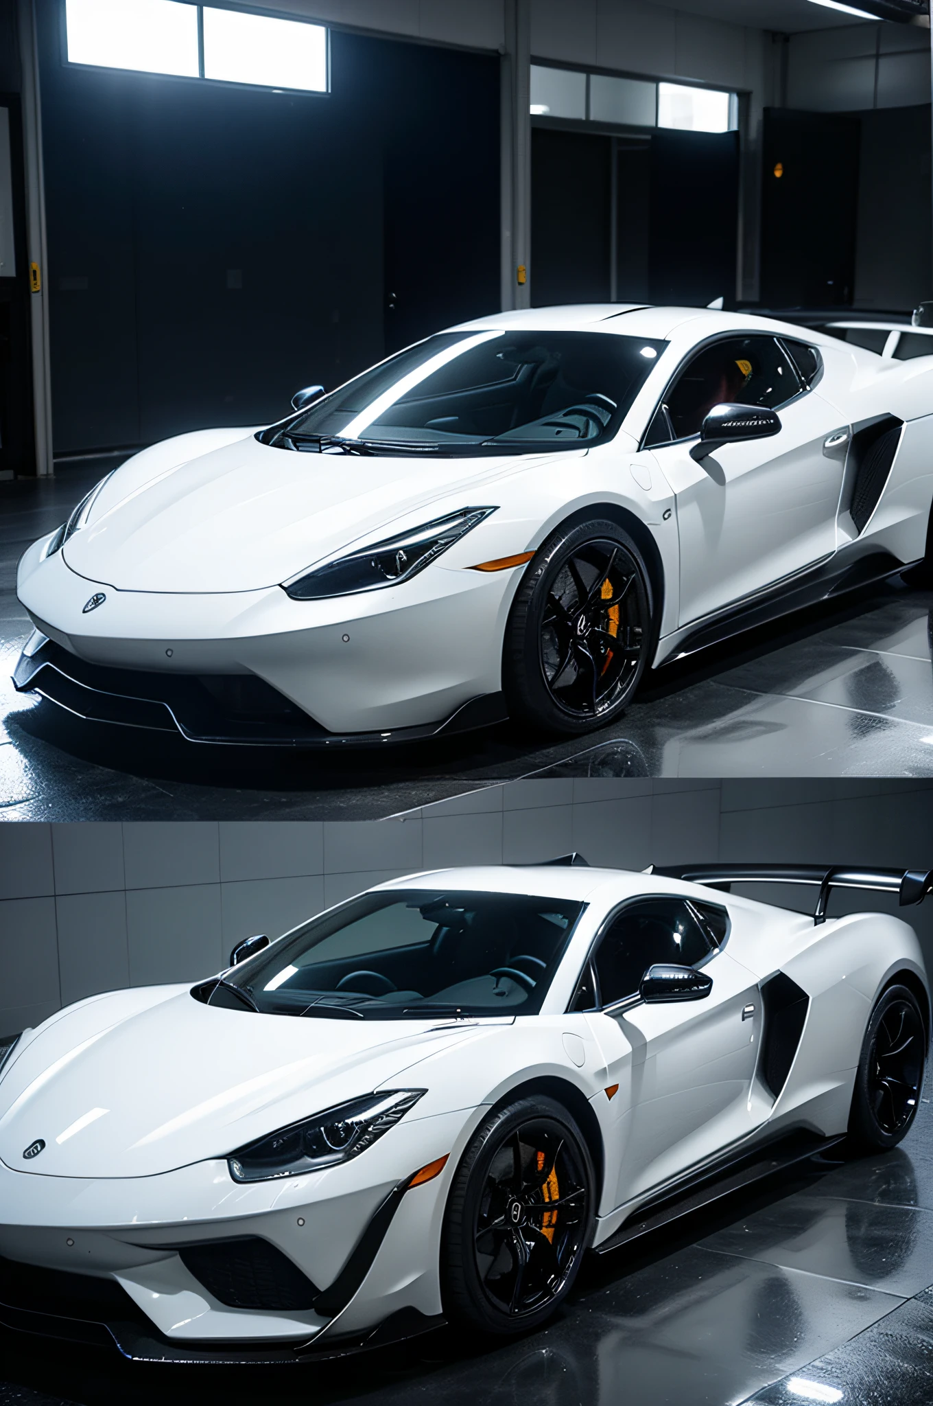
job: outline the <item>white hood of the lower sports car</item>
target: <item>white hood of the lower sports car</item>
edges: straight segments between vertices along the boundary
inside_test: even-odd
[[[427,1021],[226,1011],[188,987],[162,988],[148,1007],[133,997],[114,993],[65,1012],[7,1069],[0,1159],[13,1171],[148,1177],[223,1157],[468,1035]],[[37,1140],[42,1152],[24,1159]]]

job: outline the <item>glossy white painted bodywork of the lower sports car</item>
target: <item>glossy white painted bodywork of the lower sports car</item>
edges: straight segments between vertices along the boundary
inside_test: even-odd
[[[815,927],[698,884],[600,869],[454,869],[378,887],[438,883],[586,903],[540,1015],[292,1019],[205,1007],[187,986],[80,1001],[30,1031],[0,1076],[0,1254],[112,1277],[177,1340],[306,1339],[336,1323],[363,1329],[405,1306],[438,1313],[447,1194],[490,1105],[542,1077],[589,1101],[606,1167],[599,1243],[660,1187],[726,1149],[780,1129],[843,1132],[878,993],[901,972],[926,986],[912,928],[881,914]],[[629,898],[666,894],[729,912],[728,941],[704,965],[711,995],[615,1015],[568,1012],[606,918]],[[811,1002],[777,1101],[759,1073],[760,986],[776,972]],[[742,1018],[746,1005],[755,1007],[750,1019]],[[237,1146],[382,1088],[426,1094],[346,1166],[232,1180],[226,1156]],[[37,1137],[46,1147],[25,1161]],[[259,1234],[326,1286],[392,1187],[445,1154],[441,1175],[406,1192],[336,1320],[225,1308],[177,1254],[185,1241]]]

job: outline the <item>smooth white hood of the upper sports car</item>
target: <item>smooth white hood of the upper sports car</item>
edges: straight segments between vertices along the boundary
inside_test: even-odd
[[[430,505],[451,494],[465,495],[454,509],[478,506],[478,494],[485,503],[483,485],[527,464],[513,454],[308,454],[249,436],[143,482],[131,460],[63,555],[72,571],[118,591],[260,591],[351,543],[378,540],[396,522],[409,526],[417,509],[430,520]]]

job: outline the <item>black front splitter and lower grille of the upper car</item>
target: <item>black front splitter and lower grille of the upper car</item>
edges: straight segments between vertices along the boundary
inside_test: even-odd
[[[93,723],[181,734],[240,747],[385,747],[490,727],[507,717],[504,695],[471,699],[450,717],[379,733],[329,733],[257,675],[156,673],[89,664],[53,640],[20,655],[13,683]]]

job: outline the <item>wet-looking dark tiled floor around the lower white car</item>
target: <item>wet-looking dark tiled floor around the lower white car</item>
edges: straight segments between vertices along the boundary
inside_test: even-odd
[[[927,1098],[895,1152],[832,1159],[586,1264],[556,1320],[506,1347],[440,1329],[327,1367],[142,1369],[0,1334],[0,1406],[929,1406]]]

